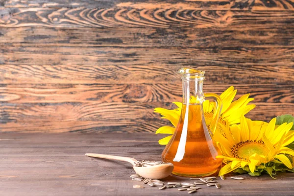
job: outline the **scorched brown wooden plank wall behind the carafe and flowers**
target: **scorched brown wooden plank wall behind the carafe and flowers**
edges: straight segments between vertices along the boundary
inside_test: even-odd
[[[181,67],[294,114],[294,0],[0,0],[2,132],[154,132]]]

